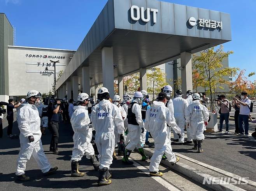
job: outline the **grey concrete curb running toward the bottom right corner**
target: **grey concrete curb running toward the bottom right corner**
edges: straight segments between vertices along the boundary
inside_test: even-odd
[[[149,156],[152,157],[153,151],[150,148],[144,148],[145,153]],[[177,172],[180,172],[181,174],[184,174],[187,177],[190,177],[191,179],[199,182],[200,184],[203,184],[203,180],[207,178],[208,180],[211,179],[212,182],[215,184],[208,184],[205,182],[205,186],[216,190],[216,191],[245,191],[245,189],[239,188],[237,186],[234,186],[232,184],[228,184],[225,182],[225,184],[218,184],[218,182],[222,182],[220,179],[215,178],[209,174],[205,174],[200,170],[197,170],[189,165],[186,165],[184,163],[178,162],[175,165],[171,165],[168,160],[161,160],[161,163],[176,170]]]

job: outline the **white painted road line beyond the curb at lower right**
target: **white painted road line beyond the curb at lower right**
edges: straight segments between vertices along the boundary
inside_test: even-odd
[[[184,158],[185,160],[188,160],[188,161],[190,161],[190,162],[196,163],[196,164],[198,164],[198,165],[200,165],[200,166],[202,166],[202,167],[205,167],[205,168],[207,168],[207,169],[210,169],[210,170],[213,170],[213,171],[218,172],[218,173],[220,173],[220,174],[223,174],[224,176],[233,177],[234,179],[239,179],[239,178],[241,178],[240,176],[238,176],[238,175],[236,175],[236,174],[233,174],[233,173],[231,173],[231,172],[227,172],[227,171],[225,171],[225,170],[222,170],[222,169],[213,167],[213,166],[211,166],[211,165],[208,165],[208,164],[206,164],[206,163],[200,162],[200,161],[198,161],[198,160],[195,160],[195,159],[193,159],[193,158],[187,157],[187,156],[185,156],[185,155],[182,155],[182,154],[179,154],[179,153],[175,153],[175,155],[177,155],[178,157]],[[254,182],[254,181],[248,180],[248,184],[249,184],[250,186],[256,187],[256,182]]]

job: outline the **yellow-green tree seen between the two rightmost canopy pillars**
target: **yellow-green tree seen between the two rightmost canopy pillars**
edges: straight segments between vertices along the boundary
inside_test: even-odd
[[[147,70],[147,93],[153,94],[153,100],[161,88],[168,85],[165,80],[165,73],[160,68],[153,67]]]

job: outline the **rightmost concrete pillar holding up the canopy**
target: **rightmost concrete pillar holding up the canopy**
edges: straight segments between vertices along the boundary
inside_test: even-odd
[[[182,93],[186,96],[187,90],[193,91],[192,85],[192,59],[191,53],[181,53],[181,81],[182,81]]]

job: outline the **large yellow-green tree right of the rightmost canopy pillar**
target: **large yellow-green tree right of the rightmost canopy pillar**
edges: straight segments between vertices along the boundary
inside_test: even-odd
[[[223,89],[223,84],[229,84],[229,80],[225,77],[235,76],[239,70],[235,67],[223,68],[221,63],[230,54],[233,54],[233,51],[224,52],[221,45],[206,49],[200,52],[200,55],[193,55],[193,68],[196,68],[200,75],[205,75],[205,87],[209,90],[211,100],[217,88]]]

